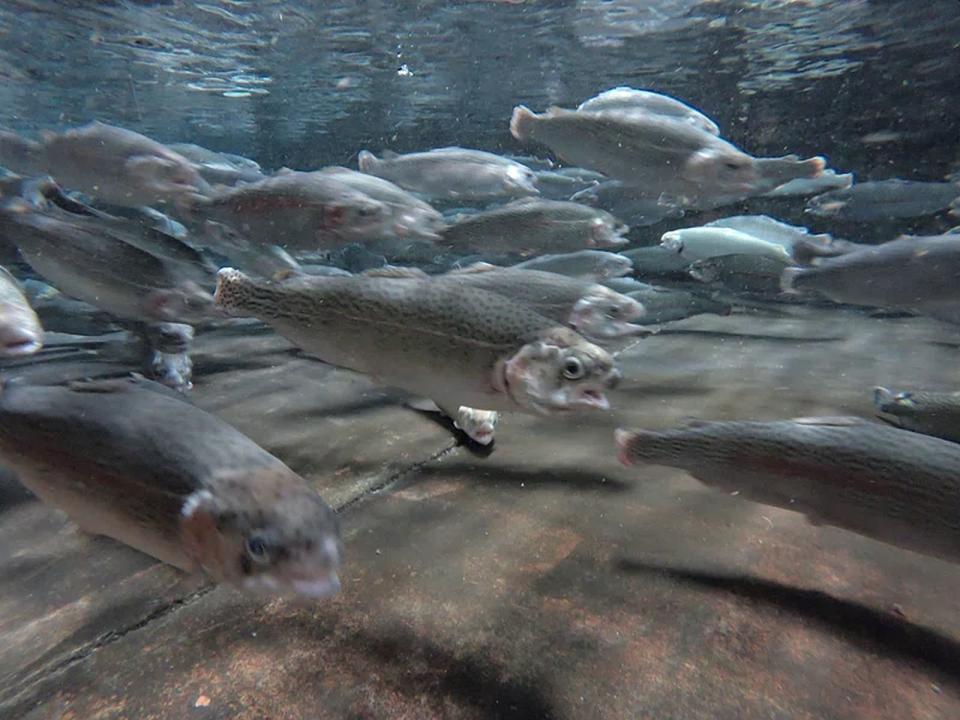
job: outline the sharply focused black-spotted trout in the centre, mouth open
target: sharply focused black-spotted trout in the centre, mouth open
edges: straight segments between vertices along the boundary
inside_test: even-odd
[[[570,328],[496,293],[430,278],[261,282],[222,268],[215,298],[326,363],[445,412],[606,410],[605,391],[620,379],[613,357]]]

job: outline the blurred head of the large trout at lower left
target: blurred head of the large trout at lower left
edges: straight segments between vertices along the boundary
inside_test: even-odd
[[[337,516],[287,468],[215,478],[184,503],[180,529],[187,554],[218,582],[310,599],[340,589]]]

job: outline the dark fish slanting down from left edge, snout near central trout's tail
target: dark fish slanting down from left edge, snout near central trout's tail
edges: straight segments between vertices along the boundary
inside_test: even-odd
[[[11,199],[0,205],[0,232],[61,292],[118,318],[200,322],[216,314],[210,293],[180,266],[125,242],[97,218]]]

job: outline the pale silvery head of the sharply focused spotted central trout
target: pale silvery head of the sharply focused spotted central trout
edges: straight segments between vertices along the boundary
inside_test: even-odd
[[[498,373],[514,402],[544,415],[609,410],[606,391],[620,381],[610,353],[565,327],[524,345]]]

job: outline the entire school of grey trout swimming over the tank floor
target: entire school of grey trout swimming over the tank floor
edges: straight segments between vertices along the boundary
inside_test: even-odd
[[[271,328],[490,445],[501,413],[609,411],[626,343],[743,302],[960,324],[960,233],[868,244],[720,212],[801,198],[845,231],[946,219],[957,182],[754,157],[649,89],[571,105],[504,118],[541,157],[361,149],[356,169],[268,171],[97,121],[0,131],[0,462],[90,533],[246,592],[323,598],[340,588],[337,514],[190,402],[210,327]],[[143,375],[29,384],[16,363],[47,351],[45,331],[135,338]],[[876,388],[874,402],[882,422],[623,428],[611,452],[960,562],[960,390]]]

